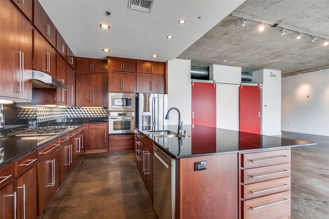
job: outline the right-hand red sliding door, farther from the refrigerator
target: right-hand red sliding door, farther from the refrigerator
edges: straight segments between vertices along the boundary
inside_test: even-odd
[[[240,131],[261,133],[261,90],[257,86],[240,87]]]

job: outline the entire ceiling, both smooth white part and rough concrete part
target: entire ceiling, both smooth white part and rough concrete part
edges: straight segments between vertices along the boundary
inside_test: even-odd
[[[128,9],[129,0],[39,1],[80,57],[181,58],[191,60],[192,67],[266,68],[281,70],[282,76],[329,68],[329,46],[322,45],[323,38],[329,39],[329,1],[155,0],[151,13]],[[265,25],[259,32],[259,22],[242,27],[231,14],[278,27]],[[180,18],[187,23],[179,25]],[[102,30],[101,23],[111,28]],[[289,30],[280,35],[279,27]],[[295,38],[298,31],[304,33],[301,39]],[[310,35],[318,36],[314,43]]]

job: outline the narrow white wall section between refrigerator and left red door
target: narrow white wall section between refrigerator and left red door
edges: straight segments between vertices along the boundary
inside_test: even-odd
[[[168,109],[177,107],[181,114],[181,121],[191,125],[191,61],[174,59],[167,62],[168,72]],[[178,125],[178,113],[170,112],[168,125]]]

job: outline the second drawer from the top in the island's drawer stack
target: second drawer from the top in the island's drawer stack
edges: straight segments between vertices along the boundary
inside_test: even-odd
[[[258,183],[276,178],[290,177],[290,163],[241,170],[241,182]]]

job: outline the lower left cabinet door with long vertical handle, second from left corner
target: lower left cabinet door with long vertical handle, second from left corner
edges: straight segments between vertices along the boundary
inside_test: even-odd
[[[36,212],[36,165],[16,178],[15,190],[17,195],[17,218],[38,218]]]

